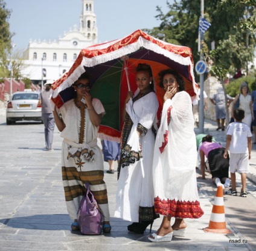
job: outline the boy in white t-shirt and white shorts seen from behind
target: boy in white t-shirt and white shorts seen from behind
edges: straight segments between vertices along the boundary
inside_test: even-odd
[[[245,123],[242,123],[245,117],[245,111],[242,108],[234,110],[235,122],[230,123],[226,129],[226,149],[224,158],[228,157],[231,173],[232,188],[226,191],[226,194],[237,196],[235,184],[235,172],[241,174],[242,189],[240,196],[247,197],[246,192],[246,173],[249,169],[249,160],[251,159],[252,133],[251,129]]]

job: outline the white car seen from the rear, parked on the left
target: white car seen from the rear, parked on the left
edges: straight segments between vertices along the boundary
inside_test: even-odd
[[[16,91],[11,95],[6,109],[6,123],[11,125],[18,120],[42,122],[42,105],[39,105],[39,92]]]

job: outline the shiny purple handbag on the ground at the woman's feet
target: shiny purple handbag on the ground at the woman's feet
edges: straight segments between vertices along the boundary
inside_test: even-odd
[[[103,215],[88,183],[85,184],[85,188],[86,194],[83,196],[77,211],[80,232],[85,235],[100,235],[103,229]]]

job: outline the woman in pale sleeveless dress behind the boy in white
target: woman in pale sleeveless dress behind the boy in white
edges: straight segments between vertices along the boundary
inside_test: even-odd
[[[252,108],[252,96],[249,93],[250,90],[248,84],[243,82],[243,84],[240,86],[240,94],[235,96],[235,99],[232,103],[231,116],[233,117],[234,104],[239,98],[239,108],[245,110],[245,118],[242,120],[242,122],[246,123],[246,125],[251,128],[252,120],[254,120],[254,109]]]

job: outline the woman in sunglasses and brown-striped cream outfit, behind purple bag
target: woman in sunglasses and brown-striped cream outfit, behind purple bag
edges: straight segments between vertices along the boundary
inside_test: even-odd
[[[91,185],[91,191],[103,212],[103,232],[109,233],[109,205],[107,188],[103,181],[104,166],[100,147],[97,145],[98,126],[105,111],[98,99],[89,94],[90,81],[83,73],[72,85],[75,98],[65,102],[59,111],[54,108],[56,126],[63,137],[62,179],[69,217],[74,222],[72,231],[79,231],[77,211],[85,194],[84,184]],[[61,114],[61,119],[58,116]]]

